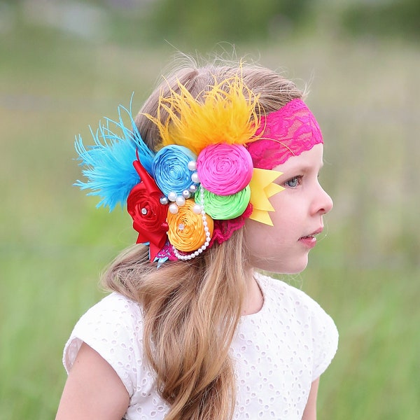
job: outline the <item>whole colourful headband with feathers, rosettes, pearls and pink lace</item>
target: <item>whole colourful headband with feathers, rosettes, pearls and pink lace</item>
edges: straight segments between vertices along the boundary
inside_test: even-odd
[[[239,76],[216,83],[202,102],[181,83],[178,87],[169,97],[161,94],[157,118],[145,114],[160,133],[156,153],[123,106],[118,121],[106,118],[106,125],[92,132],[94,146],[85,148],[80,136],[76,140],[87,178],[76,186],[99,195],[97,207],[112,211],[127,203],[137,243],[149,244],[150,259],[159,265],[190,260],[215,241],[221,244],[246,218],[272,225],[269,197],[283,190],[273,183],[281,172],[272,168],[322,142],[300,99],[258,118],[258,97]],[[168,113],[165,122],[162,111]]]

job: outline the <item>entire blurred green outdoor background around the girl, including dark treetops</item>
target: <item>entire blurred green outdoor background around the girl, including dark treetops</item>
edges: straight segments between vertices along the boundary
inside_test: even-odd
[[[420,412],[420,2],[0,1],[0,419],[53,419],[62,348],[137,235],[73,187],[73,141],[137,111],[176,51],[246,56],[310,87],[335,208],[286,279],[335,319],[326,420]]]

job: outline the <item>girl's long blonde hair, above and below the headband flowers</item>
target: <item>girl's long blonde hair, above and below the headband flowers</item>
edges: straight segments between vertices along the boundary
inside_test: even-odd
[[[156,125],[161,94],[183,85],[200,101],[214,83],[240,75],[246,88],[259,94],[264,113],[302,97],[295,84],[262,66],[245,63],[190,62],[151,94],[136,118],[141,137],[152,149],[160,143]],[[227,87],[228,88],[228,87]],[[167,113],[161,110],[160,119]],[[158,392],[169,406],[167,420],[231,419],[235,408],[235,374],[230,345],[247,293],[248,267],[244,230],[223,244],[215,243],[188,261],[165,262],[159,269],[148,260],[148,246],[121,253],[104,274],[109,290],[135,300],[144,311],[144,346],[157,374]]]

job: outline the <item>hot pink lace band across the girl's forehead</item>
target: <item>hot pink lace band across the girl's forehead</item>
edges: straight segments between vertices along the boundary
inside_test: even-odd
[[[262,116],[255,136],[261,138],[248,144],[248,152],[253,167],[260,169],[273,169],[323,143],[318,122],[302,99],[293,99],[279,111]]]

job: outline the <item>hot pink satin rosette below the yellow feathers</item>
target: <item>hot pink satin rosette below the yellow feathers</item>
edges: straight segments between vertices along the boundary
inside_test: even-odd
[[[204,148],[197,158],[197,174],[206,190],[216,195],[232,195],[251,181],[253,162],[239,144],[214,144]]]

